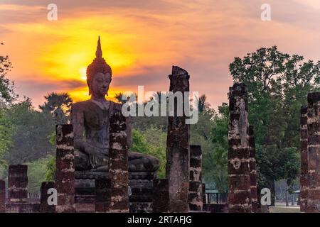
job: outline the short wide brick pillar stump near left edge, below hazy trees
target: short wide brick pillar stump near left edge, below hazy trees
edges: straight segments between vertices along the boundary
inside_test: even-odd
[[[28,199],[28,166],[10,165],[8,174],[9,202],[26,202]]]

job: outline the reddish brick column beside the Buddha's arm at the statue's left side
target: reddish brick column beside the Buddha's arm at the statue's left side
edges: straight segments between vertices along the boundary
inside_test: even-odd
[[[55,160],[55,188],[58,192],[58,213],[75,212],[75,156],[73,126],[55,126],[57,151]]]

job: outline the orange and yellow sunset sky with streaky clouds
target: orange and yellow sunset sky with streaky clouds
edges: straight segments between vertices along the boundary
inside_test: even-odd
[[[58,6],[48,21],[47,6]],[[272,21],[261,21],[262,4]],[[172,65],[191,75],[191,91],[213,108],[227,101],[228,65],[260,47],[320,60],[319,0],[0,0],[0,55],[18,94],[42,104],[48,92],[87,98],[85,69],[97,36],[119,91],[167,91]]]

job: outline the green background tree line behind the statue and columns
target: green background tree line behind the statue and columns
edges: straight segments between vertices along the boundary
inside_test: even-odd
[[[306,104],[309,92],[319,91],[319,67],[319,62],[305,62],[304,57],[279,52],[277,47],[235,57],[230,64],[233,82],[243,82],[248,89],[260,187],[274,192],[275,181],[286,179],[292,186],[299,177],[300,107]],[[73,100],[67,93],[53,92],[38,109],[27,97],[17,101],[14,84],[6,78],[10,69],[9,57],[0,57],[0,177],[6,177],[8,165],[27,163],[29,190],[38,192],[41,182],[53,179],[55,124],[68,122]],[[159,95],[157,92],[150,101]],[[121,97],[115,96],[123,103]],[[228,104],[214,110],[203,94],[198,109],[198,123],[191,125],[191,144],[203,150],[203,180],[208,187],[228,192]],[[132,128],[130,149],[158,157],[158,175],[164,177],[167,118],[133,117]]]

